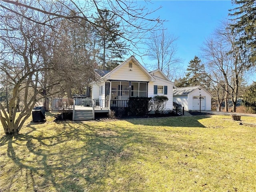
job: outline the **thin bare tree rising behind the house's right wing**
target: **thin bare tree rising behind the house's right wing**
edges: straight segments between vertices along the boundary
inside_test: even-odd
[[[156,64],[151,64],[151,68],[162,70],[170,80],[177,78],[176,71],[180,69],[180,58],[177,58],[176,40],[174,35],[168,34],[165,30],[152,32],[146,45],[148,46],[148,56]]]

